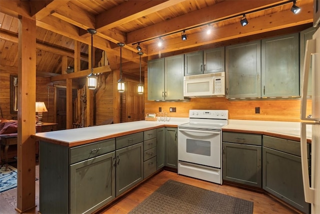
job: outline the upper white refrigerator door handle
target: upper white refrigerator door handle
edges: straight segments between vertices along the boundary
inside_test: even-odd
[[[301,120],[313,120],[306,117],[306,97],[308,90],[308,78],[310,70],[310,57],[315,53],[315,40],[307,40],[305,45],[305,55],[303,64],[302,90],[301,90]]]

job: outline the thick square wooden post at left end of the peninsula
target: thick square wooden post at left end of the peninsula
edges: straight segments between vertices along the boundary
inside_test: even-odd
[[[18,19],[17,204],[24,212],[35,206],[35,20]]]

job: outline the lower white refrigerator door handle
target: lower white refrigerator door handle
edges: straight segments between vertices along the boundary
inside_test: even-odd
[[[301,122],[300,149],[301,149],[302,181],[303,181],[303,190],[304,190],[304,200],[305,202],[308,202],[308,203],[314,203],[315,190],[314,188],[310,187],[310,184],[309,184],[310,180],[309,180],[309,173],[308,173],[308,158],[307,158],[307,149],[306,149],[306,125],[314,125],[314,124],[316,123]]]

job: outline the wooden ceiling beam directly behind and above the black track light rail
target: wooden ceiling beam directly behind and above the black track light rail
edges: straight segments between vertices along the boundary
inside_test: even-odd
[[[224,1],[183,16],[179,16],[152,26],[141,28],[127,33],[128,44],[156,38],[172,32],[182,31],[190,27],[206,24],[214,20],[223,19],[234,14],[242,15],[244,12],[262,8],[275,3],[284,2],[278,0],[263,1]],[[227,10],[225,10],[227,9]]]

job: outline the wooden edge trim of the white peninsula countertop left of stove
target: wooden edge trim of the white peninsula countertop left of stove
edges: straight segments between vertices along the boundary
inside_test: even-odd
[[[120,137],[120,136],[127,135],[127,134],[133,134],[133,133],[137,133],[137,132],[141,132],[141,131],[147,131],[147,130],[151,130],[151,129],[155,129],[155,128],[162,128],[162,127],[174,127],[174,128],[176,128],[177,125],[161,124],[161,125],[152,126],[152,127],[149,127],[149,128],[136,129],[136,130],[132,130],[132,131],[126,131],[126,132],[121,132],[121,133],[116,133],[116,134],[110,134],[110,135],[105,135],[105,136],[102,136],[102,137],[96,137],[96,138],[87,139],[87,140],[74,141],[74,142],[70,142],[70,143],[69,142],[65,142],[65,141],[49,139],[49,138],[41,137],[41,136],[37,136],[37,135],[31,135],[31,138],[33,138],[35,140],[39,140],[39,141],[43,140],[45,142],[54,143],[54,144],[67,146],[67,147],[71,148],[71,147],[74,147],[74,146],[80,146],[80,145],[84,145],[84,144],[88,144],[88,143],[93,143],[93,142],[96,142],[96,141],[106,140],[106,139]]]

